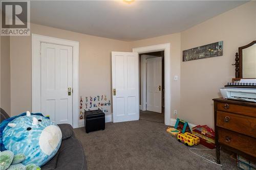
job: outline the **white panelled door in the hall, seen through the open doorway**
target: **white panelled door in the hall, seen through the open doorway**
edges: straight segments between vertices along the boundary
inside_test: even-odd
[[[162,57],[146,59],[146,110],[162,113]]]

